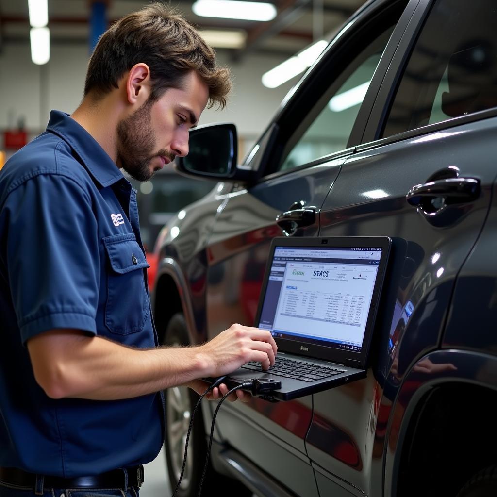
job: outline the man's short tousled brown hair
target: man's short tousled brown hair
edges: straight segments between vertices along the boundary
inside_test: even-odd
[[[214,51],[197,30],[174,10],[153,3],[115,22],[100,38],[90,58],[84,95],[100,98],[135,64],[150,68],[152,100],[167,88],[181,88],[183,78],[196,71],[209,88],[209,105],[221,108],[231,89],[227,68],[216,65]]]

